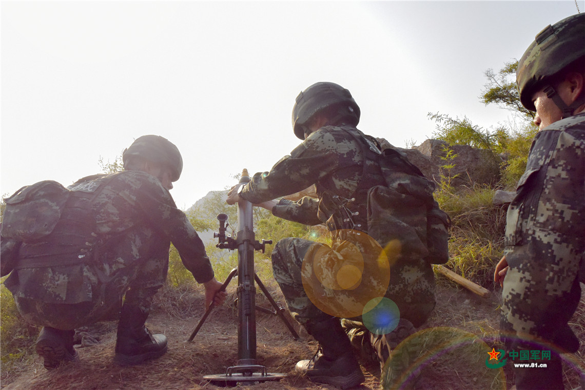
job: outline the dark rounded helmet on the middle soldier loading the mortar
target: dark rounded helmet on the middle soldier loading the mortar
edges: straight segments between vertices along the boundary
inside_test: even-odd
[[[316,82],[298,94],[292,107],[292,129],[295,136],[304,140],[304,125],[316,113],[326,108],[337,108],[338,114],[352,125],[360,121],[360,108],[352,94],[335,82]]]

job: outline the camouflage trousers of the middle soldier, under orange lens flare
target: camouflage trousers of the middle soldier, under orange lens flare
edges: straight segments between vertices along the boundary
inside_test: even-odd
[[[272,252],[274,278],[280,285],[292,316],[303,325],[328,317],[354,318],[362,321],[363,308],[372,299],[385,296],[391,299],[400,317],[414,326],[421,326],[435,307],[435,281],[431,266],[422,259],[400,258],[386,269],[385,275],[376,273],[377,258],[364,253],[364,271],[359,287],[329,287],[316,283],[307,274],[307,264],[328,265],[336,280],[336,263],[347,257],[347,247],[360,248],[352,240],[335,241],[332,247],[311,240],[289,237],[278,241]],[[372,263],[374,265],[372,265]],[[318,272],[315,270],[315,274]],[[310,281],[310,282],[309,282]],[[319,278],[319,281],[323,281]]]

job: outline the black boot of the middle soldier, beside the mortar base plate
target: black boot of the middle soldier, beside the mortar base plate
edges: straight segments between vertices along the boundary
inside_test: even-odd
[[[349,389],[364,381],[362,369],[338,318],[307,324],[307,331],[319,341],[319,350],[311,360],[301,360],[295,370],[304,372],[313,382]]]

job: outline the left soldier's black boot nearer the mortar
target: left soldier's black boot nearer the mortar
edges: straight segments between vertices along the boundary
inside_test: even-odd
[[[167,337],[152,334],[144,322],[148,312],[136,305],[123,305],[118,322],[118,338],[114,362],[119,365],[140,364],[145,360],[156,359],[167,351]]]

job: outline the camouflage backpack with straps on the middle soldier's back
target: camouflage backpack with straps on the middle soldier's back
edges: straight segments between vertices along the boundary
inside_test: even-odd
[[[328,220],[329,229],[366,232],[381,247],[398,243],[409,256],[446,263],[450,219],[433,198],[435,184],[397,150],[380,151],[359,130],[340,129],[362,147],[363,174],[350,199],[331,197],[335,204],[330,207],[336,211]]]

